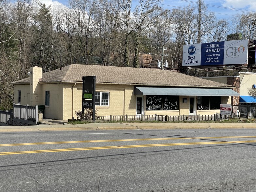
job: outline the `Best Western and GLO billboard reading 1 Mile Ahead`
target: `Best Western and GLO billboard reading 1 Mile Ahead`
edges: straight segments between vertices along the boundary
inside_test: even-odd
[[[183,46],[182,66],[248,64],[249,40],[233,40]]]

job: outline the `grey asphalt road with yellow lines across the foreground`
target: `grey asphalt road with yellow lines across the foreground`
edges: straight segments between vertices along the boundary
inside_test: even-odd
[[[0,133],[0,191],[256,191],[256,129]]]

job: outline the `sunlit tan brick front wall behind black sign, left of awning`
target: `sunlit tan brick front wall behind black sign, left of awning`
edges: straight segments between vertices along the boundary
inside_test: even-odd
[[[68,84],[63,89],[64,110],[63,118],[72,118],[72,86]],[[133,94],[133,86],[96,84],[96,92],[109,92],[109,106],[96,106],[98,116],[106,115],[135,115],[136,95]],[[73,117],[75,111],[82,110],[82,84],[74,86]],[[124,99],[125,98],[125,99]],[[66,102],[68,101],[68,102]],[[69,104],[70,103],[70,104]]]

